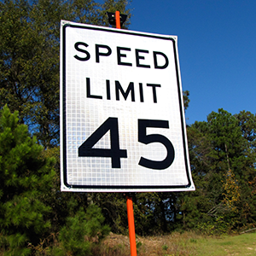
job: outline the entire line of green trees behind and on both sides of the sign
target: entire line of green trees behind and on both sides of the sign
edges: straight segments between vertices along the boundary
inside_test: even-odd
[[[0,1],[0,254],[96,254],[109,230],[127,234],[123,194],[60,192],[58,147],[60,20],[108,26],[106,11],[130,17],[127,7],[125,0]],[[189,92],[183,96],[188,108]],[[255,227],[255,124],[253,113],[219,109],[189,125],[196,190],[134,195],[137,234]]]

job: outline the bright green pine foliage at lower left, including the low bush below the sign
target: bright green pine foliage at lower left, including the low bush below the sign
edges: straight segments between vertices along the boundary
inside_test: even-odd
[[[93,244],[109,232],[103,224],[101,209],[92,204],[87,207],[84,194],[60,194],[59,173],[54,172],[54,166],[58,168],[59,164],[51,157],[54,155],[58,160],[58,148],[45,151],[35,137],[30,137],[27,126],[18,121],[17,112],[10,113],[9,108],[3,107],[0,112],[1,251],[4,255],[90,253]],[[59,239],[53,237],[57,233]]]

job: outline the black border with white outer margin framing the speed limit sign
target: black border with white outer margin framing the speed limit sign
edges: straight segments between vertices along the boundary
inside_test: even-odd
[[[65,22],[65,21],[64,21]],[[174,52],[174,60],[175,60],[175,69],[176,69],[176,78],[177,78],[177,90],[178,90],[178,101],[179,101],[179,112],[181,115],[181,128],[182,128],[182,135],[183,135],[183,153],[184,153],[184,162],[185,162],[185,167],[186,167],[186,174],[187,174],[187,179],[189,181],[188,184],[186,185],[71,185],[67,183],[67,126],[66,126],[66,29],[67,27],[73,27],[73,28],[80,28],[80,29],[89,29],[89,30],[96,30],[96,31],[103,31],[103,32],[111,32],[111,33],[119,33],[119,34],[129,34],[133,36],[140,36],[140,37],[145,37],[145,38],[157,38],[157,39],[163,39],[163,40],[171,40],[172,41],[172,46],[173,46],[173,52]],[[79,25],[79,24],[73,24],[73,23],[67,23],[62,26],[62,129],[63,129],[63,183],[67,187],[67,189],[86,189],[86,192],[91,189],[93,190],[103,190],[105,189],[106,192],[108,190],[115,190],[118,189],[118,192],[127,192],[129,189],[131,189],[131,192],[142,192],[142,191],[155,191],[154,189],[161,189],[161,192],[163,192],[164,189],[166,189],[166,192],[170,191],[175,191],[179,190],[181,191],[182,189],[187,190],[191,186],[191,180],[189,176],[189,164],[188,164],[188,159],[189,159],[189,153],[187,152],[187,144],[186,144],[186,132],[184,131],[184,116],[183,116],[183,99],[182,99],[182,93],[181,93],[181,84],[180,84],[180,73],[179,73],[179,67],[178,67],[178,61],[177,61],[177,49],[176,49],[176,44],[175,40],[173,38],[166,38],[161,35],[156,35],[156,34],[147,34],[147,33],[141,33],[141,32],[131,32],[131,31],[126,31],[126,30],[115,30],[115,29],[109,29],[107,27],[103,26],[88,26],[88,25]],[[138,189],[135,191],[135,189]],[[151,190],[152,189],[152,190]],[[173,190],[172,190],[173,189]]]

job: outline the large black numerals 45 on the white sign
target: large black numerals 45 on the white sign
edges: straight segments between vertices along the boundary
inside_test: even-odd
[[[147,135],[147,127],[169,128],[166,120],[138,119],[138,142],[143,144],[162,143],[166,147],[167,155],[164,160],[155,161],[141,157],[140,166],[164,170],[172,165],[174,148],[172,143],[160,134]],[[110,148],[93,148],[93,146],[110,131]],[[79,156],[110,157],[112,168],[120,168],[120,159],[127,158],[127,150],[119,148],[119,124],[117,118],[108,118],[90,137],[79,147]]]

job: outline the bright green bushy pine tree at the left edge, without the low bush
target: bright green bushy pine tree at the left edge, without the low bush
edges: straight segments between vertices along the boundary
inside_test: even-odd
[[[48,232],[50,207],[44,194],[51,189],[54,159],[20,125],[18,113],[6,106],[0,112],[0,227],[1,247],[6,254],[28,255]]]

